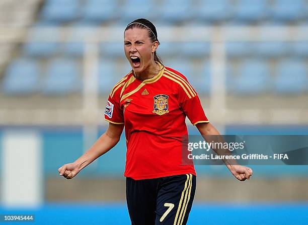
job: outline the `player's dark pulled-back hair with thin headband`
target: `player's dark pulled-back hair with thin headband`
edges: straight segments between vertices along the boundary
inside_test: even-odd
[[[128,29],[132,29],[132,28],[141,28],[141,29],[148,30],[149,39],[152,42],[158,41],[158,43],[160,44],[160,41],[158,40],[158,37],[157,37],[157,31],[156,31],[154,24],[152,24],[147,19],[140,18],[140,19],[137,19],[137,20],[130,22],[127,25],[127,27],[125,28],[124,32],[127,31]],[[156,51],[154,52],[154,61],[157,61],[157,62],[163,64],[162,59],[158,56]]]

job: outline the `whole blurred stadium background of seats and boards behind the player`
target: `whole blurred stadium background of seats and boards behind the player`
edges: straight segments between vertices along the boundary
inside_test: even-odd
[[[222,134],[308,134],[307,0],[0,0],[0,214],[130,224],[124,136],[72,180],[57,169],[106,130],[137,18],[156,25],[164,64]],[[224,166],[196,166],[188,224],[308,223],[307,166],[251,168],[238,182]]]

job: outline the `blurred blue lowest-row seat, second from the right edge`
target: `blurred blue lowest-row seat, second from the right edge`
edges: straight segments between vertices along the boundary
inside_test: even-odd
[[[234,81],[235,93],[240,95],[262,94],[268,91],[270,72],[267,64],[260,60],[246,60]]]

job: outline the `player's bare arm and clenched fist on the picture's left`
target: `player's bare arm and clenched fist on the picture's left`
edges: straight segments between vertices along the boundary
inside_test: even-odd
[[[94,160],[107,153],[120,140],[124,124],[109,123],[106,132],[98,138],[89,150],[73,163],[65,164],[58,169],[60,176],[71,179]]]

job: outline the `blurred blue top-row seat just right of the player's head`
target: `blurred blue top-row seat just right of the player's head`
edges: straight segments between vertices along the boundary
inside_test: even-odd
[[[181,23],[193,16],[190,1],[164,0],[161,5],[160,19],[165,23]]]

